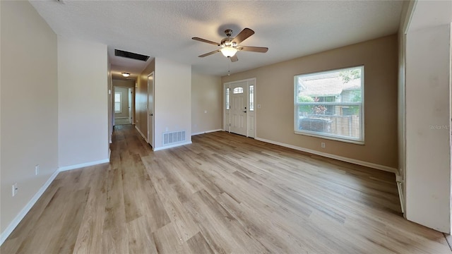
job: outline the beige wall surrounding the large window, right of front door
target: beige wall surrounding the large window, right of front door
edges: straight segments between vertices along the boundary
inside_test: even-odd
[[[294,75],[359,65],[364,65],[365,145],[295,134]],[[222,77],[222,83],[256,78],[256,104],[261,104],[256,111],[257,138],[396,169],[397,66],[397,35],[391,35],[234,73]]]

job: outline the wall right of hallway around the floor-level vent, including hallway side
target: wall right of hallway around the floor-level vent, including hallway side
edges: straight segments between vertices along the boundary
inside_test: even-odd
[[[162,133],[165,131],[185,130],[186,142],[191,142],[191,66],[167,59],[153,59],[138,76],[136,128],[147,136],[148,75],[153,71],[154,149],[162,148]]]

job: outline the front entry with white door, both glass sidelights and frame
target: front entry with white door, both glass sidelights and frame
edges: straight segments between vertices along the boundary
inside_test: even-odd
[[[224,130],[254,138],[256,136],[256,78],[223,85],[225,105]]]

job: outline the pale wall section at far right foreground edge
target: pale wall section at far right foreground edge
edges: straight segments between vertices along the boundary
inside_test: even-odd
[[[406,35],[406,218],[451,233],[451,1],[417,1]]]

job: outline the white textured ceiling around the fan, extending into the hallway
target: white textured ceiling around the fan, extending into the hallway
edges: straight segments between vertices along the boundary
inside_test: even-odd
[[[154,57],[191,64],[198,73],[226,75],[396,33],[402,1],[30,1],[64,37],[108,45],[115,76],[136,78]],[[265,54],[238,52],[230,63],[218,47],[224,30],[256,33],[242,46],[268,47]],[[232,35],[232,36],[234,36]],[[114,56],[121,49],[150,56],[148,62]]]

